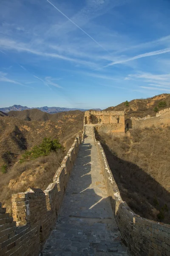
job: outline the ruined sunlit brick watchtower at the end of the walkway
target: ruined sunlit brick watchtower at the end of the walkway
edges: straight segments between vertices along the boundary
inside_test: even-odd
[[[85,111],[85,125],[93,125],[106,133],[125,133],[124,111]]]

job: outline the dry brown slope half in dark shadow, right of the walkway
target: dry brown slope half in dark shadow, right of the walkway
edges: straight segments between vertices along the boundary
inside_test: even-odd
[[[170,127],[96,134],[122,199],[144,218],[170,224]]]

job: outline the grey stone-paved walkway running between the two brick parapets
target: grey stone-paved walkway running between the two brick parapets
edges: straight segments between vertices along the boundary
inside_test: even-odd
[[[56,227],[42,256],[128,255],[112,214],[92,129],[86,125]]]

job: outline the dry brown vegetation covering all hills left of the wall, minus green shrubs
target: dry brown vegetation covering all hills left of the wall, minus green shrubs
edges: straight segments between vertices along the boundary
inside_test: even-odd
[[[6,173],[0,172],[0,202],[5,203],[8,212],[11,212],[12,193],[25,192],[29,186],[46,189],[76,135],[81,135],[83,128],[84,113],[81,111],[51,115],[29,110],[17,112],[17,117],[18,113],[19,118],[14,115],[0,116],[0,169],[7,166]],[[52,120],[48,118],[45,121],[46,114]],[[44,137],[58,139],[65,147],[65,153],[59,150],[46,157],[19,163],[25,150],[39,145]]]

